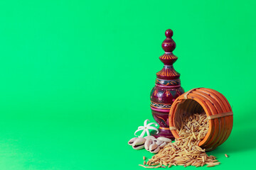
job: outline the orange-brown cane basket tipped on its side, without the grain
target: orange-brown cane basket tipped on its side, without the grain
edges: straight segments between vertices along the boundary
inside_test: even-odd
[[[181,125],[178,115],[203,113],[208,115],[209,130],[199,146],[210,151],[228,139],[233,128],[233,112],[223,94],[213,89],[198,88],[178,96],[171,106],[169,126],[175,138]]]

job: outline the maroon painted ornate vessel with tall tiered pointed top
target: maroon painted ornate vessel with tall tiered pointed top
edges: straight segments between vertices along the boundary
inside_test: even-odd
[[[156,73],[156,83],[150,94],[150,108],[156,123],[159,124],[159,133],[154,132],[154,137],[168,137],[174,139],[169,130],[169,111],[175,99],[184,93],[181,87],[180,74],[174,69],[174,62],[178,59],[173,54],[176,43],[171,38],[174,32],[171,29],[165,32],[166,39],[162,42],[164,55],[159,59],[164,63],[164,68]]]

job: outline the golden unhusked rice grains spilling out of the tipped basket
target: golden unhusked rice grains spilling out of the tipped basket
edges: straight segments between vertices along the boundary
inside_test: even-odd
[[[198,147],[208,132],[208,120],[206,113],[196,113],[182,118],[181,128],[178,130],[180,136],[174,143],[169,143],[146,162],[145,168],[159,168],[172,165],[181,166],[204,166],[208,167],[220,164],[216,157],[208,156],[206,150]],[[156,165],[156,166],[155,166]],[[164,165],[164,166],[163,166]]]

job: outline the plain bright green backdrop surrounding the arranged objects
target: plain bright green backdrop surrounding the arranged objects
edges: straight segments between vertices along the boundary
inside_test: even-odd
[[[1,1],[0,169],[143,169],[142,157],[152,154],[127,142],[153,121],[149,93],[167,28],[185,91],[215,89],[233,107],[230,138],[209,153],[222,163],[214,169],[251,167],[255,5]]]

